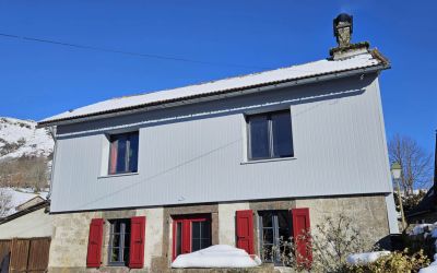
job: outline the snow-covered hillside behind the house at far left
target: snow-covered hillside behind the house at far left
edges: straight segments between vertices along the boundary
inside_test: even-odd
[[[21,156],[48,156],[54,140],[46,129],[36,129],[36,122],[0,117],[0,162]]]

